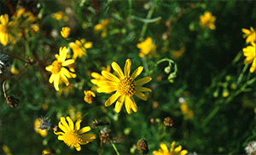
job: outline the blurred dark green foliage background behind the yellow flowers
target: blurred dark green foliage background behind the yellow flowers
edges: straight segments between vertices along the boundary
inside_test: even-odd
[[[41,15],[37,20],[39,32],[26,34],[26,39],[21,37],[15,44],[1,46],[1,51],[37,62],[20,78],[6,84],[7,94],[19,99],[19,106],[11,108],[5,103],[3,91],[0,92],[1,154],[6,153],[3,145],[8,146],[12,154],[41,154],[44,149],[51,149],[54,154],[98,154],[98,129],[91,129],[90,133],[97,138],[82,146],[80,152],[58,141],[52,130],[45,137],[34,130],[34,121],[41,116],[57,124],[61,117],[71,116],[75,122],[85,113],[81,127],[90,125],[95,119],[110,122],[107,128],[119,139],[115,146],[120,154],[138,154],[134,145],[140,139],[148,141],[149,154],[160,148],[160,142],[170,148],[172,141],[191,153],[244,154],[247,142],[255,141],[256,85],[255,82],[246,84],[255,78],[255,72],[249,73],[247,69],[237,83],[244,68],[245,57],[241,49],[246,47],[241,28],[255,27],[254,1],[3,0],[0,6],[1,14],[9,14],[9,19],[10,8],[17,6],[35,16]],[[150,10],[153,11],[151,20],[147,20]],[[67,14],[68,20],[51,17],[58,11]],[[200,15],[206,11],[216,17],[215,30],[199,25]],[[102,20],[108,20],[106,37],[94,31],[94,26]],[[61,37],[63,26],[72,28],[71,40]],[[54,32],[58,33],[56,37]],[[141,58],[137,43],[147,37],[152,37],[156,49],[151,56]],[[85,38],[93,46],[87,49],[87,55],[76,60],[77,78],[69,79],[70,87],[62,87],[63,91],[56,92],[44,68],[55,60],[54,55],[60,47],[79,38]],[[144,66],[139,78],[153,78],[145,84],[153,90],[148,100],[135,98],[138,112],[129,115],[125,107],[119,113],[113,111],[114,106],[105,107],[110,97],[107,94],[96,93],[93,103],[86,103],[84,90],[93,86],[90,72],[101,72],[102,66],[113,61],[124,69],[128,58],[131,59],[131,72]],[[177,64],[177,78],[173,83],[167,80],[169,74],[164,72],[168,63],[155,65],[164,58]],[[25,66],[13,57],[10,62],[20,71]],[[232,83],[236,83],[236,89],[230,89]],[[229,91],[226,97],[222,95],[224,85]],[[217,90],[218,96],[213,96]],[[182,104],[192,112],[190,117],[181,110]],[[166,117],[172,118],[172,127],[164,125]],[[114,153],[111,144],[103,144],[102,154]]]

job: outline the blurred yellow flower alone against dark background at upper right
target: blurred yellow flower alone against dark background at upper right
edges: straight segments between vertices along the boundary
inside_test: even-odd
[[[215,29],[214,21],[216,20],[216,17],[212,15],[210,12],[205,12],[204,15],[200,16],[200,22],[199,24],[203,27],[209,27],[211,30]]]

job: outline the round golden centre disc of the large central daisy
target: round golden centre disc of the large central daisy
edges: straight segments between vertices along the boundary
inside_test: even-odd
[[[125,77],[120,80],[118,85],[118,91],[121,95],[131,96],[135,93],[135,84],[134,80],[131,77]]]

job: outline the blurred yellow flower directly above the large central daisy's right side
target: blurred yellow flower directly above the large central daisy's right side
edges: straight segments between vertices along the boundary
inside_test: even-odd
[[[139,56],[140,57],[143,57],[145,55],[148,55],[148,53],[151,51],[151,50],[155,50],[155,45],[152,44],[152,38],[151,37],[148,37],[147,40],[145,40],[144,42],[142,43],[137,43],[137,48],[138,49],[141,49],[141,53],[139,53]]]

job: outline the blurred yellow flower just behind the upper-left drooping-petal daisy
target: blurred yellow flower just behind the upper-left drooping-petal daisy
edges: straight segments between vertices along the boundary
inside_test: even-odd
[[[73,59],[76,60],[77,57],[81,58],[83,55],[86,55],[86,49],[90,49],[92,47],[92,43],[85,43],[85,39],[76,40],[75,43],[70,43],[69,47],[73,50]]]

